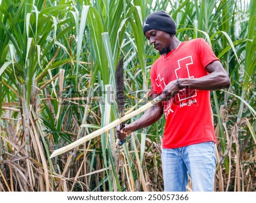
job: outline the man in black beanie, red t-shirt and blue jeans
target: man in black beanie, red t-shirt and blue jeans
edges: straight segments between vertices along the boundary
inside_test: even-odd
[[[150,96],[152,100],[162,94],[163,102],[117,129],[117,136],[123,140],[164,114],[164,190],[186,191],[189,175],[193,191],[213,191],[216,137],[209,90],[228,88],[228,74],[204,39],[180,42],[175,22],[165,11],[148,15],[143,32],[161,54],[151,68]]]

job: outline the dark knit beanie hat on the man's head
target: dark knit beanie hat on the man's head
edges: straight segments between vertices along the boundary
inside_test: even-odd
[[[164,10],[156,11],[147,16],[143,23],[143,33],[148,30],[160,30],[176,35],[174,19]]]

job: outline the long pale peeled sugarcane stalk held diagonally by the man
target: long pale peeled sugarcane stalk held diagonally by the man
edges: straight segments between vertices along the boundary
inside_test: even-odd
[[[98,129],[98,130],[90,133],[89,135],[86,135],[86,136],[76,140],[75,142],[73,142],[71,144],[68,144],[65,147],[61,147],[61,148],[53,151],[52,155],[49,158],[51,159],[51,158],[53,158],[53,157],[55,157],[57,155],[63,154],[64,152],[67,152],[67,151],[71,150],[72,148],[75,148],[75,147],[79,146],[80,144],[85,143],[88,140],[96,138],[97,136],[99,136],[102,133],[112,129],[113,127],[119,125],[120,123],[122,123],[122,122],[124,122],[124,121],[126,121],[126,120],[128,120],[130,118],[133,118],[136,115],[142,113],[143,111],[149,109],[150,107],[156,105],[156,103],[160,102],[161,100],[162,100],[161,96],[158,96],[158,97],[154,98],[154,100],[151,100],[150,102],[146,103],[145,105],[143,105],[139,109],[137,109],[137,110],[135,110],[135,111],[133,111],[133,112],[127,114],[127,115],[124,115],[121,118],[116,119],[115,121],[109,123],[108,125],[102,127],[101,129]],[[85,125],[81,125],[81,127],[84,127],[84,126]]]

